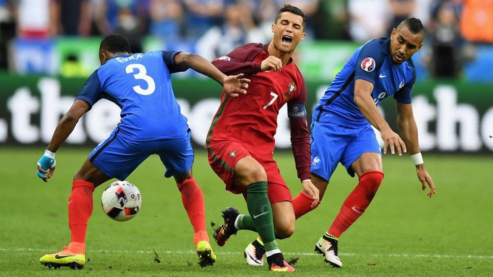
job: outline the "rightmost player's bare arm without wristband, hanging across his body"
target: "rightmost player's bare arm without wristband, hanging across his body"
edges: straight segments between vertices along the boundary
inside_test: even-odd
[[[363,116],[380,131],[382,135],[383,142],[383,153],[387,153],[387,147],[390,148],[390,153],[395,154],[395,148],[397,148],[397,153],[402,155],[402,152],[406,152],[406,145],[402,141],[398,134],[390,129],[385,119],[382,117],[380,112],[378,112],[377,106],[373,99],[371,98],[371,92],[373,90],[373,84],[362,79],[355,80],[355,90],[354,90],[354,101],[355,104],[360,108]]]

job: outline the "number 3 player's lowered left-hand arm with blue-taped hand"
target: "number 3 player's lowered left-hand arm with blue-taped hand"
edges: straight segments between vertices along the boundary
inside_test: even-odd
[[[89,103],[84,100],[76,99],[72,107],[70,107],[69,111],[58,123],[50,144],[48,144],[44,154],[37,162],[37,175],[44,182],[47,182],[47,179],[50,179],[55,172],[55,152],[72,133],[75,125],[79,122],[80,117],[82,117],[89,109]]]

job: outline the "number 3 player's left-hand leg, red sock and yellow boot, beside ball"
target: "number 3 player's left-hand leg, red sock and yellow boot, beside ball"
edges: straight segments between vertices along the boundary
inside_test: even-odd
[[[94,188],[110,180],[102,171],[86,159],[75,174],[72,193],[69,197],[70,244],[60,252],[46,254],[39,262],[48,267],[70,266],[82,268],[85,264],[85,234],[87,221],[92,214],[92,193]]]

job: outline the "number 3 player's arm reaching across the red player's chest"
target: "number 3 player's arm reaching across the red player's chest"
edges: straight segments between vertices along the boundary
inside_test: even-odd
[[[185,71],[189,68],[201,74],[210,77],[220,83],[224,91],[232,97],[237,97],[239,94],[247,94],[249,79],[241,78],[243,74],[235,76],[226,76],[219,69],[209,63],[206,59],[192,53],[179,52],[174,56],[174,64]]]

